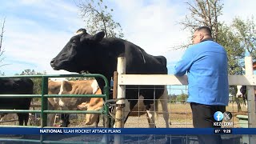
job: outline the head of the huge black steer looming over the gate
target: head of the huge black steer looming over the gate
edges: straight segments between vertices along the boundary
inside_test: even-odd
[[[97,59],[99,42],[105,33],[90,35],[85,29],[79,29],[77,35],[70,38],[61,52],[51,60],[50,66],[54,70],[67,70],[82,73],[94,64]]]

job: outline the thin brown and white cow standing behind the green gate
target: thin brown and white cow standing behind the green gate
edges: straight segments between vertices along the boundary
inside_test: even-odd
[[[96,80],[48,82],[48,94],[96,94],[98,90]],[[77,106],[82,102],[90,102],[90,98],[48,98],[48,102],[49,110],[78,110]],[[48,115],[47,125],[54,125],[54,114]]]

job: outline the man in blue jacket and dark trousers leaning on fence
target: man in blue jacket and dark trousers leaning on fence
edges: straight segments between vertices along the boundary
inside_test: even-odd
[[[189,46],[174,67],[174,74],[182,76],[187,72],[187,102],[190,102],[194,127],[218,127],[214,126],[214,113],[224,113],[228,105],[226,50],[214,42],[207,26],[194,31],[192,42],[193,45]],[[198,135],[198,142],[219,144],[222,139],[219,135]]]

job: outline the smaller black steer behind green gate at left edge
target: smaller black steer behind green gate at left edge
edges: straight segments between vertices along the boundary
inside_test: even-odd
[[[0,94],[33,94],[29,78],[0,78]],[[0,98],[1,110],[29,110],[32,98]],[[18,113],[19,126],[27,126],[28,113]]]

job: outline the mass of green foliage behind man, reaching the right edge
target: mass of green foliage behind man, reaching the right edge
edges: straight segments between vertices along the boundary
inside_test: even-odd
[[[253,18],[247,22],[235,18],[233,24],[227,26],[225,22],[218,21],[218,17],[222,15],[222,0],[194,0],[186,4],[190,14],[180,23],[191,32],[198,26],[209,26],[215,41],[226,48],[229,74],[242,74],[242,59],[246,50],[253,54],[256,44]]]

